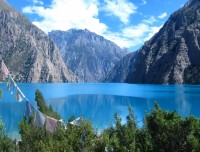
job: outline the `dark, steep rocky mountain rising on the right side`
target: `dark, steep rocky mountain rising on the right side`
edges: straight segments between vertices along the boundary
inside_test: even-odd
[[[128,83],[199,84],[199,57],[200,1],[190,0],[118,72],[128,68]]]

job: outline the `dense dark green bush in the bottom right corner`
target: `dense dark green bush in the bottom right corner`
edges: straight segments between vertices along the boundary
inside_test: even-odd
[[[153,144],[153,151],[199,151],[200,121],[193,116],[183,119],[176,112],[162,110],[155,103],[155,109],[146,115],[147,135]]]

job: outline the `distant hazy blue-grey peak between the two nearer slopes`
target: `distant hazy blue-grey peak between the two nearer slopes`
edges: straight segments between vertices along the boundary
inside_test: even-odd
[[[84,82],[99,82],[127,51],[89,30],[52,31],[49,37],[58,46],[69,68]]]

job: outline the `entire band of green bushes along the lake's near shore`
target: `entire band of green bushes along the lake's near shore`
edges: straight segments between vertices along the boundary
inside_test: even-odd
[[[54,118],[60,116],[47,107],[39,90],[36,91],[38,109]],[[27,122],[25,118],[19,124],[21,142],[16,148],[10,139],[3,135],[0,122],[0,152],[198,152],[200,151],[200,120],[193,116],[182,118],[176,112],[163,110],[155,103],[151,113],[146,113],[144,126],[139,128],[134,111],[129,106],[126,123],[115,114],[115,126],[105,129],[100,135],[92,124],[83,121],[80,126],[57,126],[55,133],[33,125],[34,116]],[[74,120],[71,117],[69,121]]]

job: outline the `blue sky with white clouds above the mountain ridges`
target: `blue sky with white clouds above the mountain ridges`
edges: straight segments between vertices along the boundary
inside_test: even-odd
[[[85,29],[135,51],[187,0],[7,0],[46,33]]]

